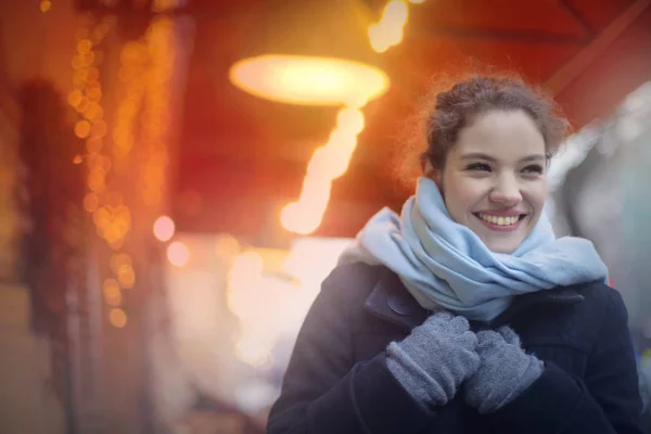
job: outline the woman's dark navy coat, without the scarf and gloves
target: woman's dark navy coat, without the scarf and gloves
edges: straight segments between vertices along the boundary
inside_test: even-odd
[[[462,393],[425,410],[386,368],[387,344],[429,315],[388,269],[336,268],[298,334],[267,432],[642,433],[626,308],[609,286],[521,295],[492,323],[471,323],[509,324],[546,365],[516,399],[488,416],[467,406]]]

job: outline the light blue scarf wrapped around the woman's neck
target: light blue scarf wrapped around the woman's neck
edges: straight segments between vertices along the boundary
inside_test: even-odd
[[[383,208],[368,221],[340,258],[354,261],[388,267],[425,309],[443,307],[481,321],[497,317],[515,295],[608,276],[592,243],[556,239],[545,213],[514,253],[490,252],[450,218],[429,178],[419,179],[399,217]]]

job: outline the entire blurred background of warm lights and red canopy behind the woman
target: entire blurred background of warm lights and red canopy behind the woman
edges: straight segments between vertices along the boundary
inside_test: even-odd
[[[5,0],[2,433],[261,433],[320,282],[399,210],[431,77],[573,124],[559,234],[622,292],[651,412],[651,0]]]

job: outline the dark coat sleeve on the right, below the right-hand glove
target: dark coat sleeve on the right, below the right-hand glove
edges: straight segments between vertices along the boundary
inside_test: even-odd
[[[515,400],[498,410],[506,432],[642,434],[642,401],[628,315],[610,290],[599,342],[588,357],[585,379],[553,363]]]

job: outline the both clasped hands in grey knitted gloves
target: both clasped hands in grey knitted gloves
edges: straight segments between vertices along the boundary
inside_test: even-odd
[[[387,367],[425,406],[445,405],[462,388],[468,405],[483,414],[513,400],[544,370],[509,327],[474,333],[465,318],[447,311],[390,344]]]

